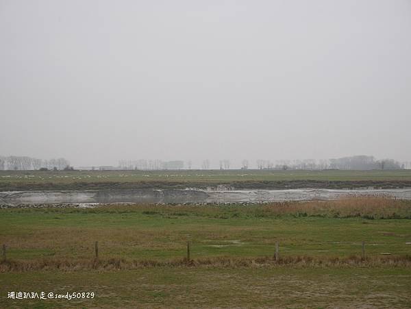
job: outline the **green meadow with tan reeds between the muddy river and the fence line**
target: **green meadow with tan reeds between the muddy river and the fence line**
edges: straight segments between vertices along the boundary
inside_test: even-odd
[[[411,201],[347,199],[254,206],[104,206],[0,210],[7,258],[47,265],[102,260],[181,260],[273,256],[317,260],[362,254],[411,255]],[[53,264],[53,263],[51,263]],[[75,262],[74,262],[75,264]],[[90,264],[87,262],[86,264]],[[38,266],[40,267],[40,266]],[[4,267],[3,271],[10,269]]]

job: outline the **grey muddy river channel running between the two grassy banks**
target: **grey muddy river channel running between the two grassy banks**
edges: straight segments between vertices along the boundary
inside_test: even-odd
[[[291,190],[71,190],[0,192],[0,205],[57,203],[262,203],[341,197],[411,199],[411,189]]]

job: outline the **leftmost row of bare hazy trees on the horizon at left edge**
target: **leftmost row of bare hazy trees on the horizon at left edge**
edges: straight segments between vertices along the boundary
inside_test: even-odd
[[[0,171],[72,170],[64,158],[42,160],[27,156],[0,156]]]

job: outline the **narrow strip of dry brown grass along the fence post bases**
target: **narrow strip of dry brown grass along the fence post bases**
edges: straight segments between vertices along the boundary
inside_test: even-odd
[[[253,267],[411,267],[411,256],[373,256],[362,258],[360,256],[348,257],[312,257],[312,256],[287,256],[274,260],[273,257],[258,258],[232,258],[215,257],[199,258],[194,260],[175,259],[159,260],[127,260],[124,258],[110,258],[107,260],[87,259],[62,259],[43,258],[41,260],[7,260],[0,263],[0,272],[10,271],[83,271],[97,269],[132,270],[149,269],[155,267],[219,267],[219,268],[253,268]]]

